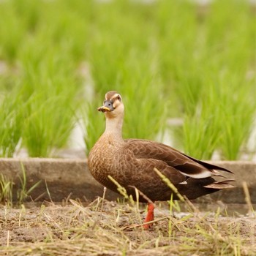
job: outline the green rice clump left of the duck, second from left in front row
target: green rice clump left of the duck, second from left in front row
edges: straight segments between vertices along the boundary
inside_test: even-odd
[[[67,97],[31,97],[24,122],[23,143],[31,157],[48,157],[66,145],[74,127],[73,110]]]

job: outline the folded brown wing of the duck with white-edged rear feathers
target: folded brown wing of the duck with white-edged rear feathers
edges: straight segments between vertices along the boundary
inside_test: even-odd
[[[137,159],[157,159],[175,168],[184,176],[191,178],[207,178],[210,176],[222,176],[217,170],[232,173],[223,167],[211,165],[198,159],[187,156],[180,151],[151,140],[127,139],[124,140],[126,148],[132,151]]]

